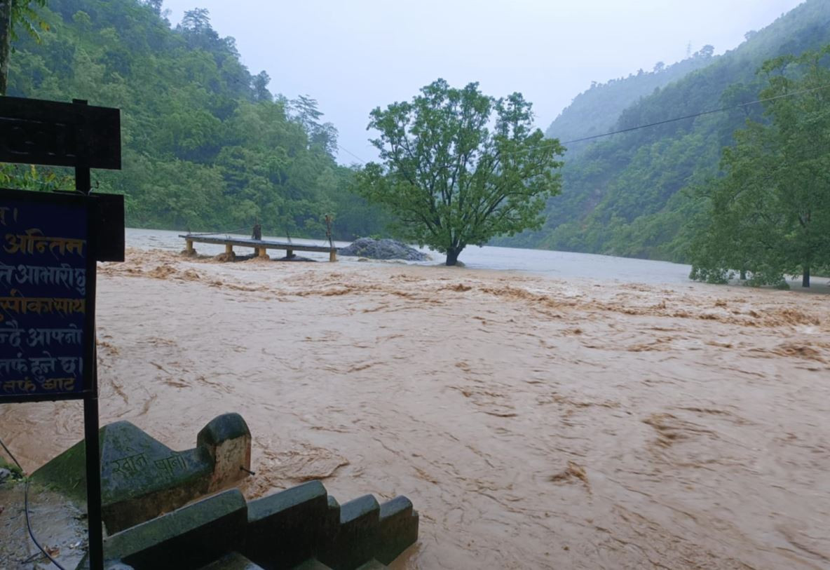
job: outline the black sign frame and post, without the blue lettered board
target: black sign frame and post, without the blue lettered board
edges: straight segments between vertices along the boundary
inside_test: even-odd
[[[106,199],[90,197],[90,168],[121,168],[120,110],[92,107],[85,100],[71,103],[0,96],[0,162],[46,164],[75,168],[74,194],[43,193],[45,200],[86,200],[87,263],[85,342],[90,344],[90,359],[85,370],[84,444],[86,455],[86,507],[89,529],[90,570],[104,568],[104,536],[101,519],[100,442],[98,411],[98,367],[95,351],[95,270],[97,261],[124,261],[124,199],[109,195]],[[25,192],[25,191],[14,191]],[[0,195],[2,197],[2,195]],[[38,199],[38,198],[35,198]],[[93,205],[98,202],[97,208]],[[66,202],[69,203],[69,202]],[[115,220],[120,217],[120,221]],[[96,220],[103,222],[95,225]],[[120,228],[120,237],[113,234]],[[115,235],[115,241],[105,234]],[[103,246],[99,249],[98,246]],[[120,251],[118,251],[120,247]],[[88,293],[91,291],[91,295]],[[86,353],[85,357],[86,358]],[[89,375],[87,379],[86,376]],[[41,395],[39,395],[41,396]],[[56,396],[56,395],[55,395]],[[66,397],[25,397],[17,401],[37,402],[78,399]],[[3,401],[0,400],[0,403]],[[5,402],[12,402],[11,398]]]

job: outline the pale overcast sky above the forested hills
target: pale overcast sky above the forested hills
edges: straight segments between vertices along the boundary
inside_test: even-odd
[[[706,44],[723,53],[745,32],[802,0],[164,0],[173,25],[205,7],[237,39],[271,91],[308,94],[339,129],[340,145],[377,157],[369,111],[408,100],[442,77],[479,81],[487,95],[520,91],[546,129],[592,80],[683,59]],[[354,162],[341,151],[342,163]]]

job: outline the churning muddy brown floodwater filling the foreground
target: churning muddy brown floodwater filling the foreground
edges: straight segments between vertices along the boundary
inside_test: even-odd
[[[830,298],[423,266],[100,270],[101,420],[253,434],[248,497],[405,494],[397,568],[830,568]],[[81,405],[0,408],[31,470]]]

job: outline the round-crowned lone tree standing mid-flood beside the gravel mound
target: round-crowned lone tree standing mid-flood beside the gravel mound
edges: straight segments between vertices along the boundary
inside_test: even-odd
[[[355,188],[398,217],[400,236],[446,253],[447,266],[468,245],[538,228],[561,188],[564,149],[534,129],[530,107],[520,93],[495,99],[444,80],[378,107],[369,128],[383,164],[367,164]]]

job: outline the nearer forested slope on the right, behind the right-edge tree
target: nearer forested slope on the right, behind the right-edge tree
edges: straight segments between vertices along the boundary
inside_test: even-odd
[[[756,70],[765,60],[830,42],[830,0],[808,0],[747,37],[629,106],[614,129],[757,100],[765,78]],[[600,139],[566,160],[563,192],[549,201],[545,227],[510,245],[686,261],[702,211],[691,188],[717,175],[721,149],[747,119],[764,120],[763,110],[749,105]]]

